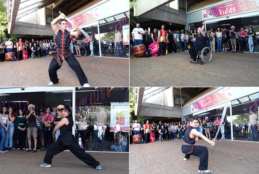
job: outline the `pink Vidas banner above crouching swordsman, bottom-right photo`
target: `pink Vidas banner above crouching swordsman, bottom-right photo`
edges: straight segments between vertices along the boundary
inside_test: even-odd
[[[199,110],[202,110],[204,108],[222,103],[226,100],[232,99],[232,88],[231,87],[226,87],[223,88],[195,103],[193,103],[191,106],[191,112],[196,112]]]

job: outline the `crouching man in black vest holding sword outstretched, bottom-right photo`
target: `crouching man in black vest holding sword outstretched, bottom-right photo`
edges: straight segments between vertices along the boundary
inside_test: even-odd
[[[207,139],[206,136],[202,135],[198,132],[195,127],[198,124],[198,119],[191,116],[189,118],[190,124],[189,127],[185,130],[185,134],[183,137],[183,145],[182,152],[185,153],[184,161],[190,158],[190,155],[194,155],[196,157],[200,157],[200,165],[199,165],[199,173],[212,173],[211,170],[208,170],[208,159],[209,159],[209,151],[205,146],[194,146],[195,141],[198,141],[198,138],[201,137],[205,141],[211,144],[211,146],[215,146],[214,141]]]

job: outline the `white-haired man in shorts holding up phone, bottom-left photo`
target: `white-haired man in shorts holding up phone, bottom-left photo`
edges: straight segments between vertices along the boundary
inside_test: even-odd
[[[37,125],[36,125],[36,119],[40,119],[36,112],[35,112],[35,106],[33,104],[30,104],[28,106],[28,111],[25,116],[26,119],[28,120],[28,127],[27,127],[27,131],[28,131],[28,143],[29,143],[29,149],[26,152],[30,152],[31,151],[31,136],[34,139],[34,149],[32,152],[37,152],[36,150],[36,146],[37,146]]]

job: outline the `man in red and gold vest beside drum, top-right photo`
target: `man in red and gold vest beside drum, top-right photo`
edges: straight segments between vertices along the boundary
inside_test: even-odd
[[[158,48],[158,53],[157,53],[157,56],[160,56],[161,52],[162,52],[162,55],[165,56],[166,54],[166,47],[167,47],[167,42],[168,42],[168,37],[167,37],[167,31],[165,30],[165,26],[162,25],[161,27],[162,29],[159,30],[158,32],[158,37],[157,37],[157,40],[159,41],[158,44],[159,44],[159,48]]]

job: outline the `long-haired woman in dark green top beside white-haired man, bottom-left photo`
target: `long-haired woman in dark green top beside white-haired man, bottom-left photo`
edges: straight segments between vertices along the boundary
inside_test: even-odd
[[[17,150],[20,149],[25,151],[25,139],[26,139],[26,128],[27,128],[27,119],[25,118],[25,114],[23,109],[19,109],[19,116],[15,119],[14,126],[15,129],[18,129],[17,134]]]

